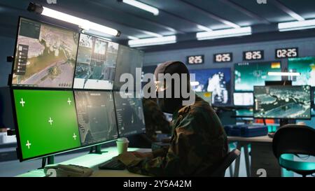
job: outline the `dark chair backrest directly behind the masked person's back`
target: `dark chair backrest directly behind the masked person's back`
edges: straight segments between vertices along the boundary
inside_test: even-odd
[[[211,176],[213,177],[224,176],[226,169],[230,167],[232,162],[234,162],[237,159],[237,157],[239,157],[239,155],[241,155],[241,151],[237,149],[232,150],[230,153],[228,153],[228,155],[225,156],[223,161],[220,164],[218,164],[216,169],[211,173]]]

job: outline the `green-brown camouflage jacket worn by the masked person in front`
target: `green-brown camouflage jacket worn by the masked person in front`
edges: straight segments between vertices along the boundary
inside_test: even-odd
[[[173,115],[169,149],[156,150],[127,169],[148,176],[207,176],[211,167],[228,153],[228,141],[221,122],[209,104],[196,96],[193,106]]]

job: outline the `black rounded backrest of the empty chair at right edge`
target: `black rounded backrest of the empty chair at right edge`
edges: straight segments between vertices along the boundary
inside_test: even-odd
[[[315,129],[305,125],[284,125],[274,134],[274,156],[282,154],[315,155]]]

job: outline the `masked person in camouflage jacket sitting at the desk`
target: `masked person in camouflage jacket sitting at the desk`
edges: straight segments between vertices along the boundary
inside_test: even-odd
[[[155,69],[159,74],[187,74],[189,71],[182,62],[166,62]],[[195,103],[183,106],[186,99],[181,93],[176,97],[175,85],[188,87],[190,80],[180,80],[175,84],[157,81],[157,93],[172,97],[158,97],[158,105],[165,113],[173,113],[172,139],[169,148],[153,153],[129,153],[138,160],[130,162],[127,169],[136,174],[148,176],[209,176],[228,153],[228,141],[223,126],[209,104],[195,95]],[[162,84],[162,85],[161,85]],[[118,156],[119,157],[119,156]],[[120,158],[123,161],[123,157]]]

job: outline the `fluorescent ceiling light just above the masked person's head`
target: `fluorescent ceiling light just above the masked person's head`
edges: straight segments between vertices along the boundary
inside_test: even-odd
[[[176,43],[176,36],[163,36],[158,38],[142,38],[139,40],[130,40],[128,44],[130,47],[140,47],[147,45],[163,45]]]

